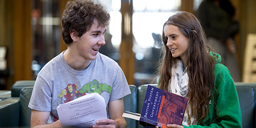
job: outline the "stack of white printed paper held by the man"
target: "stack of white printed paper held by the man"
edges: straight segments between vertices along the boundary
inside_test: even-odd
[[[92,127],[97,120],[107,119],[104,98],[98,93],[81,96],[57,107],[61,126]]]

